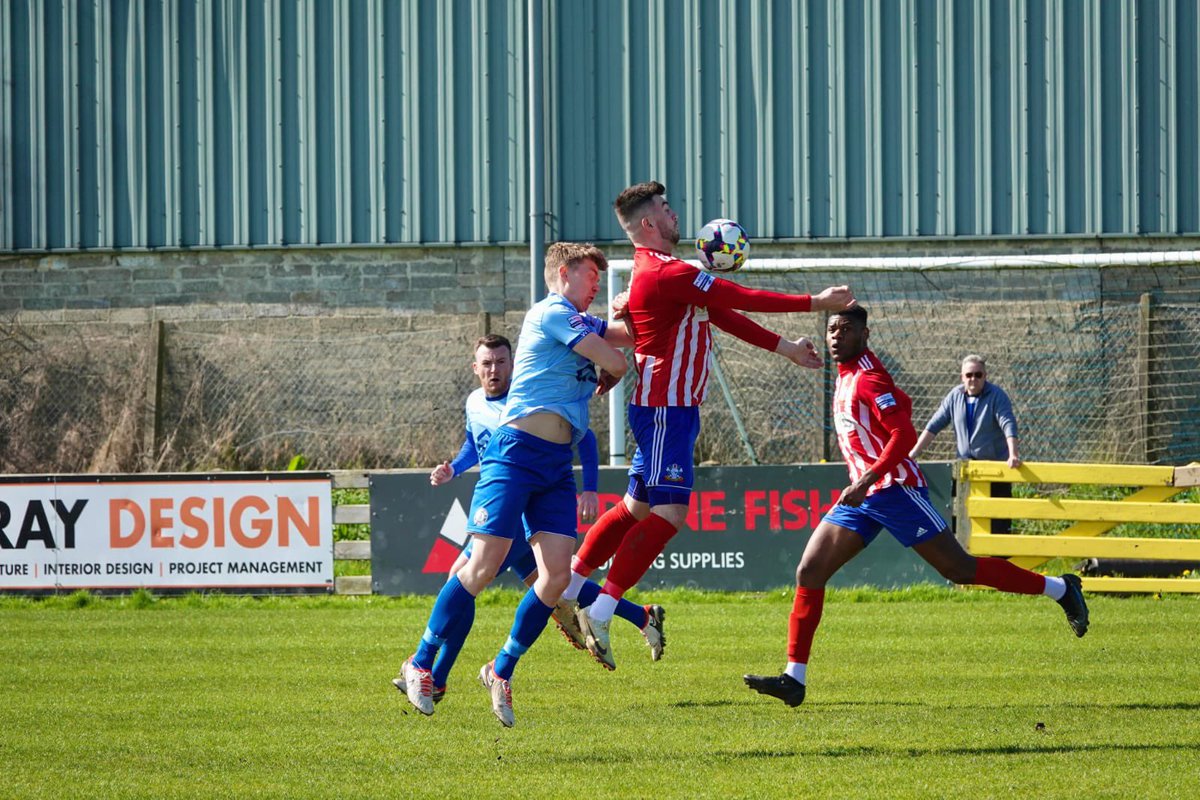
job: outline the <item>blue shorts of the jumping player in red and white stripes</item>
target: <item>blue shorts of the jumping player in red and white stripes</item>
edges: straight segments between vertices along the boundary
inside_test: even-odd
[[[630,405],[637,451],[629,467],[629,495],[656,505],[688,505],[700,435],[698,405]]]

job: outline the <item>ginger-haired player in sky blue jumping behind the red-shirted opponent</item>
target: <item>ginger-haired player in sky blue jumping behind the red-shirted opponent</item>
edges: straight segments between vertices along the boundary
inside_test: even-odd
[[[475,596],[508,557],[523,516],[538,579],[517,607],[508,640],[479,675],[491,692],[493,714],[504,726],[514,723],[512,670],[570,582],[576,524],[571,445],[588,429],[590,397],[614,385],[626,368],[617,348],[629,347],[629,332],[586,313],[607,266],[590,245],[546,249],[551,294],[529,309],[521,327],[508,402],[484,451],[472,498],[470,558],[438,594],[416,652],[404,663],[407,696],[421,714],[433,714],[431,667],[438,649],[463,620],[474,618]]]

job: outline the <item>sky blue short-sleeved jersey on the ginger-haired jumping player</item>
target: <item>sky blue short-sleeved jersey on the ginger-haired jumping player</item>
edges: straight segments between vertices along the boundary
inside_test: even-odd
[[[572,444],[588,429],[588,401],[596,389],[596,368],[574,348],[588,333],[604,336],[608,323],[581,313],[558,294],[534,303],[521,325],[512,385],[500,423],[551,411],[571,423]]]

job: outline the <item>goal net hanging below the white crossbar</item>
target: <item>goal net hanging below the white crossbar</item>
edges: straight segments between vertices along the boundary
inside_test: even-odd
[[[870,347],[913,401],[920,431],[960,381],[962,356],[988,360],[1013,399],[1027,459],[1187,463],[1200,458],[1200,269],[941,269],[746,273],[784,291],[850,283],[870,311]],[[823,318],[758,315],[817,338]],[[702,449],[718,461],[839,458],[828,417],[835,367],[793,368],[727,336],[718,361],[733,403],[709,408]],[[749,444],[737,446],[734,416]],[[737,452],[740,450],[740,455]],[[943,432],[925,451],[953,458]]]

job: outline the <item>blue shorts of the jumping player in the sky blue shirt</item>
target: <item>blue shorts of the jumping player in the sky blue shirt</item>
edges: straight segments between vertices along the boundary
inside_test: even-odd
[[[575,539],[575,474],[571,445],[546,441],[500,426],[479,464],[467,533],[502,539],[539,531]]]

